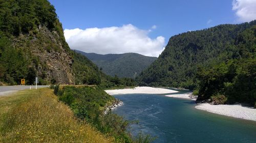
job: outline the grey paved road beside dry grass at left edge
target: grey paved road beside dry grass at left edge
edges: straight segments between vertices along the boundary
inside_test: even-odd
[[[49,85],[37,85],[37,88],[46,88]],[[30,85],[15,85],[15,86],[0,86],[0,96],[8,95],[12,92],[30,89]],[[35,85],[31,86],[31,89],[35,89]]]

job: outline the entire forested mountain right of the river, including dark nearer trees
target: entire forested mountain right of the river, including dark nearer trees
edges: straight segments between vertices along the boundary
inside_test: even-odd
[[[256,20],[223,24],[169,39],[159,58],[137,78],[141,85],[197,89],[198,101],[256,99]]]

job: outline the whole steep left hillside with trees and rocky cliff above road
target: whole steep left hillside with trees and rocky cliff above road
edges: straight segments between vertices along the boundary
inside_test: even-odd
[[[132,79],[110,77],[72,51],[54,7],[46,0],[0,0],[0,85],[102,84],[123,86]],[[133,82],[133,83],[130,83]]]

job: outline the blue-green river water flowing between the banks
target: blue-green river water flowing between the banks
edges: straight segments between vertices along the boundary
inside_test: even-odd
[[[185,93],[187,91],[180,91]],[[139,120],[131,131],[157,136],[154,142],[256,142],[256,122],[209,113],[195,102],[164,95],[115,95],[124,102],[114,110],[126,120]]]

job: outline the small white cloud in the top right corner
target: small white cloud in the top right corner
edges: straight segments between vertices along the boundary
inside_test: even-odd
[[[249,22],[256,19],[256,0],[233,0],[232,6],[239,21]]]

